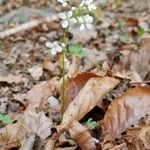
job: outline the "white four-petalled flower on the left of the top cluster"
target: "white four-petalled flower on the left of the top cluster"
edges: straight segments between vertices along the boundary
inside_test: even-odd
[[[73,12],[68,11],[66,13],[60,13],[59,14],[60,19],[62,19],[62,27],[67,28],[69,26],[69,23],[75,24],[77,23],[77,19],[73,18]]]

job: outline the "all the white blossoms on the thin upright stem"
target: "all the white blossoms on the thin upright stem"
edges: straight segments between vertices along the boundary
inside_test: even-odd
[[[69,0],[57,0],[62,6],[66,7]],[[62,20],[63,28],[68,28],[70,25],[77,24],[80,30],[92,29],[93,17],[88,14],[89,11],[96,9],[93,0],[82,0],[79,7],[72,7],[68,12],[60,13],[59,18]],[[46,46],[51,49],[51,54],[62,52],[63,45],[60,46],[57,41],[54,43],[47,42]]]

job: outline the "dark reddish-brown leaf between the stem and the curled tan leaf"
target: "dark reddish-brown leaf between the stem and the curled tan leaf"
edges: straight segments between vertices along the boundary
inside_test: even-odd
[[[75,78],[68,78],[66,84],[65,108],[67,108],[69,103],[76,97],[86,82],[92,77],[97,77],[97,75],[90,72],[84,72],[78,74]]]

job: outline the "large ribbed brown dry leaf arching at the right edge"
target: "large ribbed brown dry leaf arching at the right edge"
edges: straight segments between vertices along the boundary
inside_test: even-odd
[[[119,138],[121,133],[150,113],[150,88],[131,88],[115,99],[103,120],[105,140]]]

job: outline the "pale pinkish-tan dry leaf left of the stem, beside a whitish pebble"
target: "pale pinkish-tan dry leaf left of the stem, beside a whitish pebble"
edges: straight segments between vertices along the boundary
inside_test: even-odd
[[[31,104],[34,107],[42,107],[44,102],[47,102],[48,97],[53,95],[52,91],[51,85],[47,82],[34,85],[26,95],[28,104]]]

